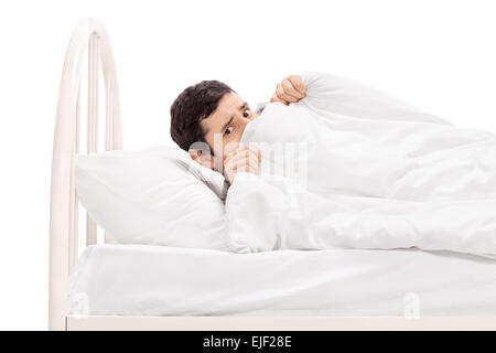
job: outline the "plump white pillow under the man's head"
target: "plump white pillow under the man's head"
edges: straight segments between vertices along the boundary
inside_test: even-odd
[[[78,197],[117,243],[227,250],[226,185],[173,147],[75,158]]]

